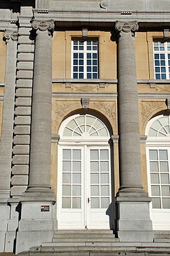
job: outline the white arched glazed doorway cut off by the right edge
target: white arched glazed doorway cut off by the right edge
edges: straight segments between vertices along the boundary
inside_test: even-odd
[[[170,116],[158,115],[146,127],[148,193],[153,229],[170,229]]]

